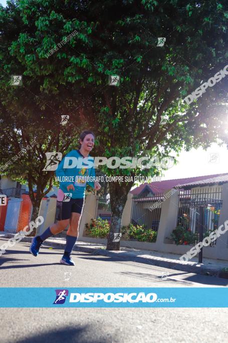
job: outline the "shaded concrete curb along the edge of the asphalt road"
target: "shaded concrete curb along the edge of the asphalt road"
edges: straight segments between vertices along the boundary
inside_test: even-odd
[[[5,236],[2,236],[4,238],[12,238],[14,237],[14,234],[6,234]],[[31,242],[33,237],[24,237],[21,242]],[[52,240],[48,239],[43,243],[44,246],[49,247],[55,247],[58,249],[64,249],[65,243],[62,242],[52,242]],[[174,270],[180,270],[187,273],[195,273],[195,274],[202,274],[202,275],[208,275],[208,276],[218,276],[223,273],[221,273],[221,268],[212,268],[212,267],[206,267],[202,264],[198,264],[196,262],[190,262],[191,264],[182,264],[181,262],[174,262],[173,260],[162,260],[158,258],[149,258],[149,257],[139,257],[136,256],[133,252],[125,252],[125,251],[109,251],[106,249],[98,249],[95,247],[83,247],[79,245],[75,245],[73,248],[73,251],[83,252],[83,253],[89,253],[92,255],[100,255],[100,256],[106,256],[115,258],[117,260],[129,260],[132,262],[138,262],[138,263],[144,263],[149,264],[157,267],[164,267],[168,269],[174,269]],[[189,262],[187,262],[189,263]],[[223,276],[224,278],[224,276]],[[228,276],[227,276],[228,278]]]

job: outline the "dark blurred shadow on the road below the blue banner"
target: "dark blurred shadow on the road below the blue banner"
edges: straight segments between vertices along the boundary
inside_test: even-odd
[[[91,326],[91,325],[90,325]],[[96,339],[94,328],[90,326],[63,327],[52,331],[35,333],[33,336],[17,340],[17,343],[111,343],[111,338]]]

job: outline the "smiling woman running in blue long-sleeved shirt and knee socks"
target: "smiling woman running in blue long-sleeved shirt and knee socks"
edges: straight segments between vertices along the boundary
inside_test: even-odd
[[[32,244],[30,246],[30,252],[34,256],[37,256],[39,254],[40,247],[45,240],[53,235],[59,234],[66,228],[67,225],[69,225],[67,231],[66,248],[63,257],[60,260],[60,263],[69,266],[75,265],[74,261],[71,258],[71,252],[78,238],[78,227],[84,206],[86,184],[88,183],[96,190],[99,190],[101,188],[98,182],[90,182],[86,180],[87,177],[95,177],[95,169],[94,167],[88,168],[88,164],[82,162],[83,158],[90,156],[89,153],[94,147],[94,139],[95,136],[91,131],[83,131],[79,139],[79,149],[70,151],[60,162],[56,170],[56,175],[60,177],[60,180],[67,180],[67,177],[73,176],[76,181],[74,183],[60,181],[60,189],[58,191],[57,197],[58,221],[57,223],[48,227],[41,236],[33,238]],[[78,161],[81,160],[81,168],[75,167],[64,169],[63,166],[66,157],[76,157]],[[69,195],[72,196],[69,198]]]

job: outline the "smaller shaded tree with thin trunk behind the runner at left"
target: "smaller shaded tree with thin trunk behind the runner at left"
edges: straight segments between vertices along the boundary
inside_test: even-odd
[[[33,204],[32,219],[35,220],[42,198],[53,185],[58,185],[54,181],[54,171],[43,170],[47,161],[46,153],[61,152],[64,156],[77,146],[77,137],[83,129],[82,116],[80,108],[77,112],[76,107],[73,108],[67,87],[62,98],[55,98],[53,93],[42,92],[35,78],[27,78],[22,86],[11,85],[12,74],[22,74],[24,81],[25,72],[20,59],[14,58],[9,51],[9,45],[17,39],[23,27],[20,9],[14,2],[9,3],[6,9],[1,9],[0,23],[0,52],[4,66],[0,79],[0,170],[13,180],[28,183]],[[69,112],[69,123],[60,125],[61,116]],[[74,125],[76,120],[77,127]],[[35,231],[31,235],[34,236]]]

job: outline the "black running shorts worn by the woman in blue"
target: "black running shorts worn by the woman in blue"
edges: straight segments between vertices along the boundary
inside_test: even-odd
[[[70,219],[71,213],[82,214],[84,198],[70,199],[70,201],[57,201],[56,220]]]

